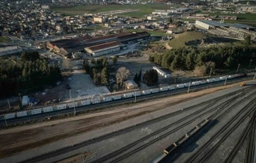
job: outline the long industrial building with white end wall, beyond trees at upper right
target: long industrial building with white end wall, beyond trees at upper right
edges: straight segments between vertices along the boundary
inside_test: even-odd
[[[251,36],[256,39],[255,27],[241,23],[219,23],[217,21],[196,20],[196,25],[208,29],[219,36],[245,38]]]

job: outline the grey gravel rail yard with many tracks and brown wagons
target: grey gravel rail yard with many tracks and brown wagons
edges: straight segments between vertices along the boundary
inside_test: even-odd
[[[238,83],[144,115],[150,119],[121,122],[112,132],[105,127],[65,147],[58,146],[64,144],[60,140],[1,161],[57,162],[85,154],[86,162],[254,162],[255,95],[255,83]],[[122,128],[124,123],[129,127]]]

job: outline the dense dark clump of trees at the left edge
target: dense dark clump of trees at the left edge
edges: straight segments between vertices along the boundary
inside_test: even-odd
[[[0,97],[40,90],[61,79],[60,68],[50,65],[38,52],[22,52],[15,64],[0,65]]]

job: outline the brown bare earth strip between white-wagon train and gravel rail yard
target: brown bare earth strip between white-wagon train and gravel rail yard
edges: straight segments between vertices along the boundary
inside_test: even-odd
[[[85,132],[97,130],[132,117],[164,109],[170,105],[198,98],[218,90],[232,88],[238,84],[177,95],[169,98],[151,100],[139,104],[122,105],[110,109],[98,110],[93,113],[70,117],[63,120],[41,122],[34,125],[14,127],[0,132],[0,158],[10,156],[35,147],[55,142],[67,137],[73,137]],[[67,127],[68,126],[68,127]]]

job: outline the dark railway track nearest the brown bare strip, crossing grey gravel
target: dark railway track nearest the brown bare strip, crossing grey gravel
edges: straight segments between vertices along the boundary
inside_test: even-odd
[[[150,125],[150,124],[155,123],[155,122],[159,122],[159,121],[161,121],[161,120],[166,120],[166,119],[169,118],[169,117],[173,117],[173,116],[175,116],[175,115],[179,115],[179,114],[181,114],[181,113],[183,113],[183,112],[186,112],[186,111],[188,111],[188,110],[193,110],[193,109],[196,108],[196,107],[200,107],[200,106],[207,105],[208,103],[210,103],[210,104],[208,104],[206,107],[204,107],[204,108],[208,108],[209,105],[213,105],[213,104],[215,104],[216,102],[220,102],[221,100],[225,100],[225,98],[229,98],[231,95],[237,95],[237,94],[238,94],[238,95],[244,95],[243,93],[245,93],[245,92],[247,92],[247,91],[250,91],[250,90],[253,90],[253,89],[254,89],[254,87],[243,88],[242,90],[238,90],[238,91],[235,91],[235,92],[233,92],[233,93],[228,93],[227,95],[220,96],[220,97],[215,98],[215,99],[213,99],[213,100],[208,100],[208,101],[206,101],[206,102],[201,102],[201,103],[198,104],[198,105],[193,105],[192,107],[187,107],[187,108],[184,108],[183,110],[178,110],[178,111],[172,112],[172,113],[170,113],[170,114],[168,114],[168,115],[163,115],[163,116],[157,117],[157,118],[155,118],[155,119],[153,119],[153,120],[149,120],[149,121],[146,121],[146,122],[142,122],[142,123],[140,123],[140,124],[138,124],[138,125],[134,125],[134,126],[131,126],[131,127],[127,127],[127,128],[125,128],[125,129],[119,130],[119,131],[117,131],[117,132],[112,132],[112,133],[107,134],[107,135],[102,135],[102,136],[100,136],[100,137],[95,137],[95,138],[93,138],[93,139],[91,139],[91,140],[87,140],[87,141],[84,141],[84,142],[80,142],[80,143],[74,144],[73,146],[70,146],[70,147],[63,147],[63,148],[57,149],[57,150],[55,150],[55,151],[53,151],[53,152],[48,152],[48,153],[46,153],[46,154],[41,154],[41,155],[39,155],[39,156],[36,156],[36,157],[32,157],[32,158],[30,158],[30,159],[23,160],[23,161],[21,161],[20,163],[29,163],[29,162],[39,162],[39,161],[43,161],[43,160],[45,160],[45,159],[49,159],[49,158],[51,158],[51,157],[58,156],[58,155],[60,155],[60,154],[65,154],[65,153],[71,152],[71,151],[73,151],[73,150],[75,150],[75,149],[79,149],[79,148],[81,148],[81,147],[85,147],[85,146],[87,146],[87,145],[89,145],[89,144],[93,144],[93,143],[95,143],[95,142],[100,142],[100,141],[102,141],[102,140],[106,140],[106,139],[109,139],[109,138],[111,138],[111,137],[115,137],[115,136],[118,136],[118,135],[122,135],[122,134],[124,134],[124,133],[130,132],[130,131],[132,131],[132,130],[136,130],[136,129],[140,128],[140,127],[144,127],[144,126],[146,126],[146,125]]]

